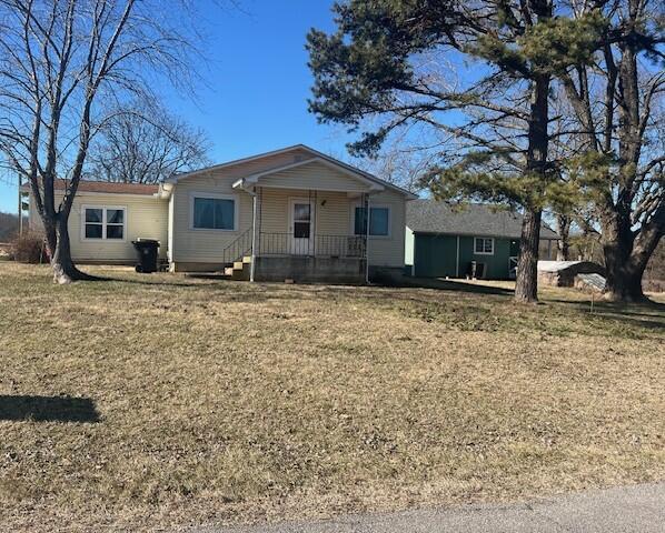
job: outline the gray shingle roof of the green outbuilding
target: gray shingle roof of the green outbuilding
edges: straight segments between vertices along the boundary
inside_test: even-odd
[[[522,215],[488,204],[469,203],[464,208],[453,208],[435,200],[414,200],[406,204],[406,225],[415,233],[519,239]],[[557,239],[557,234],[543,224],[540,239]]]

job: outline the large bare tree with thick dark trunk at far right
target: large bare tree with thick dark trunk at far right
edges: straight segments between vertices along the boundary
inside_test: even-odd
[[[638,301],[644,270],[665,232],[663,4],[575,0],[572,7],[576,17],[601,9],[607,21],[596,61],[560,79],[587,154],[579,173],[601,230],[606,295]]]

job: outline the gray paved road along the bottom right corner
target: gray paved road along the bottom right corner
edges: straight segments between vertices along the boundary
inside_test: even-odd
[[[200,527],[196,533],[665,533],[665,482],[513,505],[348,516],[328,522]]]

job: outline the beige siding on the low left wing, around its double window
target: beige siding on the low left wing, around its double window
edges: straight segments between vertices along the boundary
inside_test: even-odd
[[[56,202],[59,203],[61,199],[62,195],[57,194]],[[83,239],[83,205],[125,208],[125,239]],[[30,228],[43,231],[32,197]],[[168,202],[149,195],[79,192],[73,200],[68,228],[71,255],[78,262],[133,263],[136,251],[131,241],[139,237],[157,239],[160,242],[159,255],[165,258],[168,248]]]

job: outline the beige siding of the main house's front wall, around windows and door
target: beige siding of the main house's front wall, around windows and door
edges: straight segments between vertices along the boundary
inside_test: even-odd
[[[172,261],[181,263],[220,263],[224,250],[239,235],[251,228],[252,197],[232,189],[241,179],[270,169],[286,167],[314,159],[306,151],[281,153],[254,161],[210,169],[207,172],[183,178],[172,193]],[[298,170],[298,172],[295,172]],[[268,188],[268,184],[275,185]],[[312,161],[286,171],[279,171],[259,181],[261,204],[261,231],[265,233],[290,232],[289,199],[316,198],[314,231],[318,235],[351,235],[353,209],[359,204],[358,192],[366,190],[360,181],[344,171]],[[315,193],[309,188],[316,188]],[[325,189],[325,190],[322,190]],[[344,192],[343,192],[344,191]],[[190,228],[192,193],[232,194],[237,198],[238,227],[236,231],[192,230]],[[349,197],[348,192],[353,195]],[[354,198],[355,197],[355,198]],[[369,262],[377,266],[404,266],[405,198],[404,194],[387,190],[373,194],[371,202],[390,208],[390,235],[371,238]],[[324,203],[321,205],[321,203]]]

